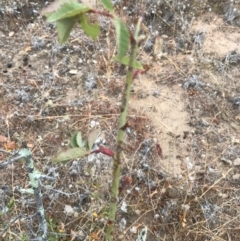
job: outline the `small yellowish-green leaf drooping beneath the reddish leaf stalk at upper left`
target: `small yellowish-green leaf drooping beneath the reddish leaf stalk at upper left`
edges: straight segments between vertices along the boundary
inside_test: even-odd
[[[79,24],[81,25],[85,34],[87,34],[92,39],[96,40],[98,35],[100,34],[100,26],[96,23],[90,24],[88,16],[86,14],[82,14]]]

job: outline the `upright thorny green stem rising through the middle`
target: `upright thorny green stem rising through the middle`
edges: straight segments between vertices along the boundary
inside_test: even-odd
[[[109,214],[108,214],[108,227],[106,240],[113,240],[113,229],[114,222],[117,211],[117,203],[118,203],[118,192],[119,192],[119,182],[120,182],[120,174],[121,174],[121,159],[122,159],[122,151],[124,149],[124,133],[126,129],[127,123],[127,111],[128,111],[128,102],[130,99],[130,92],[132,88],[133,82],[133,63],[136,60],[137,50],[138,50],[138,35],[140,31],[142,18],[140,17],[136,26],[136,31],[134,34],[134,40],[131,41],[131,52],[129,59],[129,67],[126,76],[125,89],[122,97],[121,103],[121,114],[119,116],[119,124],[118,124],[118,135],[117,135],[117,144],[116,150],[114,153],[113,160],[113,181],[111,187],[111,201],[109,206]]]

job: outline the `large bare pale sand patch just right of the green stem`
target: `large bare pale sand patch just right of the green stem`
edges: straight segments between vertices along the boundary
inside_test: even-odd
[[[178,177],[181,173],[181,160],[187,154],[187,139],[184,132],[189,132],[187,122],[189,114],[184,110],[183,89],[178,85],[158,86],[147,76],[141,76],[135,84],[136,94],[130,99],[130,108],[138,110],[154,125],[153,138],[157,139],[163,157],[156,159],[155,168],[166,174]],[[154,97],[154,91],[159,96]],[[139,98],[139,95],[143,98]]]

